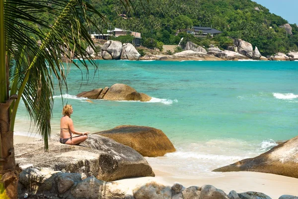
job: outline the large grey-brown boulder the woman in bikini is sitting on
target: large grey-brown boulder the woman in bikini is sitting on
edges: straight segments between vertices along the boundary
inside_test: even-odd
[[[154,176],[141,154],[110,138],[89,135],[81,145],[50,141],[49,152],[46,153],[42,141],[16,144],[15,160],[21,168],[47,167],[55,171],[93,175],[104,181]]]

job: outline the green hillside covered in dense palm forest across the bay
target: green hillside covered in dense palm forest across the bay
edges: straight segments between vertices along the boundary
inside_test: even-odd
[[[251,0],[132,0],[127,9],[120,0],[88,0],[103,13],[113,27],[142,33],[143,41],[153,38],[164,44],[178,44],[176,31],[192,26],[209,26],[223,31],[217,38],[194,39],[209,47],[225,48],[230,38],[240,38],[257,46],[263,55],[298,50],[298,27],[291,24],[293,35],[279,26],[288,23],[280,16]],[[126,14],[123,18],[120,14]],[[96,19],[102,29],[107,26]],[[90,32],[95,31],[89,27]],[[97,31],[98,32],[98,31]]]

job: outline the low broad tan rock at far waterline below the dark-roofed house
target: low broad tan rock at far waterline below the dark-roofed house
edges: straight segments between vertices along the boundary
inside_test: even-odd
[[[221,61],[222,59],[209,55],[203,52],[195,52],[193,50],[185,50],[174,55],[163,56],[159,60],[165,61],[182,61],[182,60],[206,60],[206,61]]]

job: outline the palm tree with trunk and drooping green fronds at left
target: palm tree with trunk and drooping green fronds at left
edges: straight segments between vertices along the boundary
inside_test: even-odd
[[[121,0],[128,2],[126,0]],[[48,2],[48,3],[47,3]],[[37,13],[51,14],[54,24]],[[16,199],[18,172],[13,130],[22,99],[48,150],[53,107],[53,77],[60,92],[67,85],[62,57],[86,56],[76,67],[97,67],[82,44],[95,46],[83,23],[96,25],[87,13],[104,18],[84,0],[0,0],[0,198]],[[37,24],[37,26],[35,25]],[[37,27],[37,28],[36,28]],[[40,28],[38,28],[40,27]],[[37,40],[41,41],[38,45]]]

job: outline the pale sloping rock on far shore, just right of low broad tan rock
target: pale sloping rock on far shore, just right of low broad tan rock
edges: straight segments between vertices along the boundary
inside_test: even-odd
[[[219,48],[208,48],[208,54],[219,57],[223,60],[248,59],[248,57],[241,55],[239,53],[228,51],[228,50],[222,51]]]

